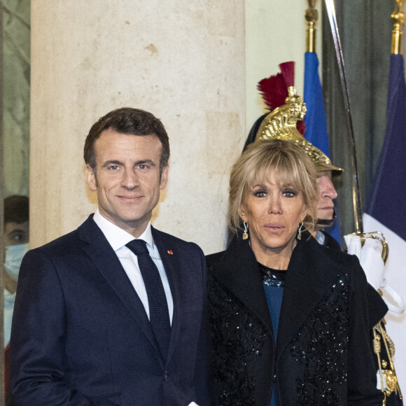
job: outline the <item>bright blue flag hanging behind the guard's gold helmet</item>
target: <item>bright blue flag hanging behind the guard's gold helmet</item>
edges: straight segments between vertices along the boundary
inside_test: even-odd
[[[318,76],[318,57],[316,52],[305,52],[304,54],[303,100],[307,107],[307,113],[306,116],[304,116],[304,124],[306,125],[304,137],[316,148],[323,151],[325,155],[330,157],[323,90],[320,77]],[[335,211],[337,213],[337,206],[335,207]],[[335,223],[330,228],[326,228],[325,231],[332,235],[338,242],[341,240],[337,219]]]

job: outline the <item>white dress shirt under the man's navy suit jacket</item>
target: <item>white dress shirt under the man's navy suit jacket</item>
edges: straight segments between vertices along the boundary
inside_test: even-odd
[[[142,304],[144,304],[144,308],[149,319],[148,296],[146,294],[146,288],[144,285],[144,280],[142,279],[141,271],[139,270],[137,255],[135,255],[130,248],[125,246],[125,244],[129,243],[135,238],[127,231],[118,227],[118,225],[115,225],[111,223],[111,221],[104,218],[102,214],[100,214],[99,209],[97,209],[94,213],[93,220],[99,226],[100,230],[102,230],[107,241],[109,241],[111,248],[113,248],[114,252],[118,256],[121,265],[123,265],[125,273],[132,283],[132,286],[134,286],[137,295],[141,299]],[[164,269],[164,265],[162,264],[158,248],[153,240],[151,221],[148,223],[146,229],[138,239],[144,239],[144,241],[146,241],[146,246],[151,258],[153,262],[155,262],[155,265],[158,267],[158,271],[160,272],[162,285],[164,286],[165,295],[167,296],[169,318],[172,325],[172,317],[174,315],[174,300],[172,299],[171,288],[169,287],[169,281]]]

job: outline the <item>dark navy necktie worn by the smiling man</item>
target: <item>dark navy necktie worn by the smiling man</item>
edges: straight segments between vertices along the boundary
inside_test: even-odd
[[[134,239],[126,244],[137,255],[139,269],[144,280],[148,296],[149,319],[161,354],[167,357],[169,339],[171,338],[171,322],[164,286],[157,266],[149,255],[146,241]]]

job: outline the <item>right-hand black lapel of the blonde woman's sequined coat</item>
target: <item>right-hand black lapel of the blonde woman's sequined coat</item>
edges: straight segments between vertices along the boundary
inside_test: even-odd
[[[335,279],[326,269],[336,267],[323,253],[323,248],[309,234],[298,241],[290,258],[283,290],[276,359],[305,323]]]

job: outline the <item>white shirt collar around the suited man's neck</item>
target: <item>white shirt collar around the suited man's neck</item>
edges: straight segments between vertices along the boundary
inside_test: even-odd
[[[102,230],[104,236],[106,237],[107,241],[109,241],[109,244],[114,251],[118,251],[120,248],[125,246],[125,244],[134,239],[134,236],[131,235],[129,232],[123,230],[123,228],[118,227],[118,225],[111,223],[111,221],[102,216],[102,214],[100,214],[99,208],[97,208],[96,212],[94,213],[93,220],[99,226],[100,230]],[[151,221],[148,221],[146,229],[138,237],[138,239],[144,239],[144,241],[146,241],[146,243],[151,246],[151,248],[154,248],[151,232]]]

